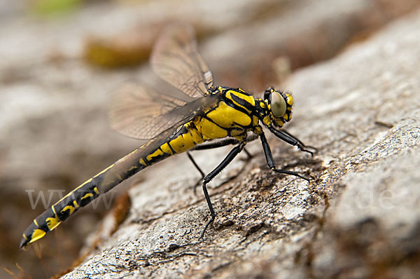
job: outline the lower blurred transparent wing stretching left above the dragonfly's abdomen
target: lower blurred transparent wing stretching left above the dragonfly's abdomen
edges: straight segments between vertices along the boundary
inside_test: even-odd
[[[113,95],[109,118],[111,127],[123,135],[148,140],[190,121],[213,102],[214,97],[208,96],[187,103],[146,86],[127,83]]]

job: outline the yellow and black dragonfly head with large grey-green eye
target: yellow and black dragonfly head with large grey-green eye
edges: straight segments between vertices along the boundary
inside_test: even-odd
[[[273,123],[282,127],[284,123],[292,118],[293,97],[290,93],[285,93],[274,88],[267,88],[264,92],[265,107],[267,114],[262,122],[265,125]]]

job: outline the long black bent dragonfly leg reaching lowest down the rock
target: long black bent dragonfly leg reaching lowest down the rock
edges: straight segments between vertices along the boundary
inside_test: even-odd
[[[204,177],[203,181],[203,192],[204,196],[206,197],[207,205],[209,205],[210,210],[210,220],[207,222],[206,226],[204,226],[204,229],[202,231],[202,234],[199,239],[201,239],[204,236],[204,233],[206,232],[207,227],[214,222],[214,218],[216,218],[216,213],[214,213],[213,205],[211,204],[209,192],[207,192],[207,183],[211,181],[216,175],[218,175],[224,168],[226,168],[227,165],[229,165],[230,162],[232,162],[233,158],[235,158],[241,151],[244,149],[246,142],[240,142],[239,145],[234,147],[226,156],[223,161],[214,169],[212,170],[208,175]]]

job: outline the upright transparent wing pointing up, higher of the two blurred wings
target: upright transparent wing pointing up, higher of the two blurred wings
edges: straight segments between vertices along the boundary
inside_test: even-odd
[[[151,55],[153,71],[186,95],[207,95],[213,75],[197,50],[193,28],[189,25],[167,27]]]

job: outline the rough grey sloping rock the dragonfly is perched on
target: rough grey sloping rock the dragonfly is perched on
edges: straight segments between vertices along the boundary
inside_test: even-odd
[[[190,163],[175,158],[130,190],[128,218],[64,278],[415,278],[419,26],[416,11],[288,81],[289,130],[319,152],[269,141],[278,165],[310,174],[310,184],[273,174],[259,143],[249,144],[255,156],[211,184],[218,215],[198,241],[207,206],[186,186]],[[198,161],[210,170],[225,153]]]

